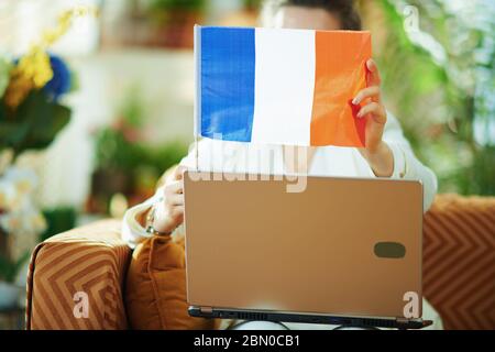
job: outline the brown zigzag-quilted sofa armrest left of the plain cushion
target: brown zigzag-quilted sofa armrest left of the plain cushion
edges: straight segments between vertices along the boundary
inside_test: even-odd
[[[131,250],[120,227],[120,220],[102,220],[36,246],[28,274],[26,329],[128,328],[122,292]],[[86,302],[87,310],[80,306]]]

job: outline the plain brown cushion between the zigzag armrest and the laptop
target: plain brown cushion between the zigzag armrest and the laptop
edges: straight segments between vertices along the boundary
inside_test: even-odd
[[[184,241],[154,237],[133,252],[125,304],[133,329],[215,329],[217,321],[190,317],[186,299]]]

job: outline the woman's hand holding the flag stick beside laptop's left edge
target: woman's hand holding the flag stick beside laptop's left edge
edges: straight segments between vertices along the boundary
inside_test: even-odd
[[[156,205],[153,227],[158,232],[172,232],[184,221],[184,166],[177,166],[163,187],[164,199]]]

